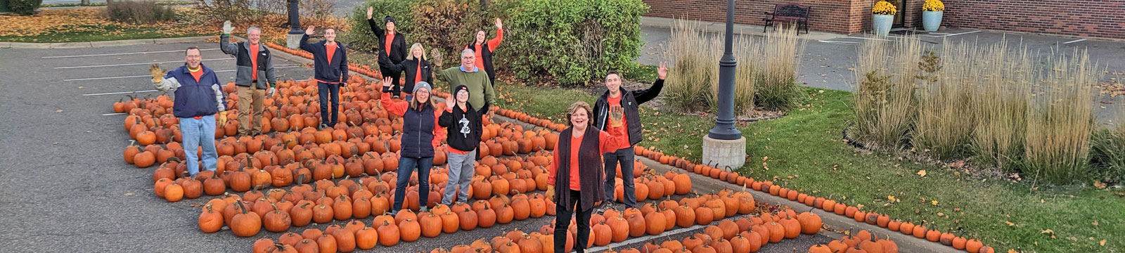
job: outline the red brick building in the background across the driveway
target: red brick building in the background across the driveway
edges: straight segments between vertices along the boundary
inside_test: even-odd
[[[647,16],[726,21],[726,0],[644,0]],[[889,0],[899,7],[897,27],[921,27],[925,0]],[[840,34],[871,30],[875,0],[736,0],[735,22],[763,25],[777,3],[810,6],[809,29]],[[943,26],[1025,33],[1125,38],[1125,0],[944,0]]]

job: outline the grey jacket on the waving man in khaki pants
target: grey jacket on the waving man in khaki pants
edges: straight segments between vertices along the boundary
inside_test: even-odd
[[[237,72],[234,78],[234,84],[240,87],[250,87],[253,81],[252,64],[250,61],[250,44],[246,42],[231,43],[231,35],[222,35],[218,40],[219,49],[223,53],[234,55],[236,58]],[[270,49],[267,48],[266,44],[258,44],[258,53],[254,54],[258,57],[258,89],[269,89],[277,84],[277,78],[273,75],[273,55],[270,54]],[[266,78],[266,81],[261,81]],[[268,83],[268,84],[267,84]]]

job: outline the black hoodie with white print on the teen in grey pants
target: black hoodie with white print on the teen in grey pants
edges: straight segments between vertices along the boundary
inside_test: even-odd
[[[469,88],[457,85],[448,99],[457,99],[457,92],[462,89],[468,90]],[[484,111],[488,108],[482,107],[480,111],[472,110],[472,105],[469,105],[468,101],[465,102],[465,106],[469,109],[461,108],[456,102],[453,108],[446,108],[446,111],[438,117],[438,125],[446,127],[446,143],[449,143],[449,147],[469,152],[480,145],[480,133],[484,133],[480,120]]]

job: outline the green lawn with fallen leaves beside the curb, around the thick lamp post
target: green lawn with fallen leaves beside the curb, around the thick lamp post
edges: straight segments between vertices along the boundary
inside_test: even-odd
[[[651,67],[627,78],[650,82]],[[640,79],[637,79],[640,76]],[[501,83],[497,103],[561,123],[572,102],[593,102],[577,89]],[[749,162],[739,172],[757,180],[829,197],[892,218],[925,222],[979,237],[1007,252],[1123,252],[1125,198],[1120,188],[1046,187],[975,177],[896,154],[860,151],[840,141],[853,118],[852,93],[804,89],[808,99],[780,119],[740,125]],[[645,142],[665,154],[700,163],[701,138],[713,118],[644,107]],[[705,163],[705,161],[702,161]],[[918,174],[926,171],[925,177]],[[898,201],[891,202],[890,198]],[[875,233],[885,233],[879,231]],[[1100,242],[1105,241],[1105,245]]]

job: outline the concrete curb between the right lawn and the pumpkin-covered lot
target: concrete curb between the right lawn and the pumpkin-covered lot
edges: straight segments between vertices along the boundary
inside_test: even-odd
[[[531,125],[531,124],[528,124],[528,123],[523,123],[523,121],[520,121],[520,120],[516,120],[516,119],[513,119],[513,118],[503,117],[503,116],[500,116],[500,115],[495,116],[494,119],[496,119],[498,121],[511,121],[511,123],[514,123],[514,124],[520,124],[521,126],[523,126],[524,129],[534,129],[534,128],[538,127],[538,126],[534,126],[534,125]],[[709,178],[709,177],[703,177],[701,174],[696,174],[694,172],[685,171],[683,169],[678,169],[678,168],[674,168],[674,166],[670,166],[670,165],[666,165],[666,164],[659,163],[657,161],[649,160],[648,157],[644,157],[644,156],[638,155],[638,156],[636,156],[636,160],[639,161],[639,162],[641,162],[642,164],[651,168],[652,170],[656,170],[656,171],[660,172],[660,173],[664,173],[664,172],[667,172],[667,171],[675,171],[677,173],[687,174],[692,179],[692,191],[693,192],[699,192],[699,193],[706,195],[706,193],[718,193],[720,190],[724,190],[724,189],[731,189],[731,190],[736,190],[736,191],[737,190],[741,190],[741,189],[738,189],[738,187],[736,187],[732,183],[719,181],[717,179],[712,179],[712,178]],[[899,252],[911,252],[911,253],[914,253],[914,252],[940,252],[940,253],[957,253],[957,252],[963,252],[963,251],[955,250],[955,249],[953,249],[951,246],[942,245],[939,243],[934,243],[934,242],[929,242],[929,241],[926,241],[926,240],[922,240],[922,238],[917,238],[917,237],[914,237],[912,235],[906,235],[906,234],[902,234],[902,233],[899,233],[899,232],[891,232],[890,229],[882,228],[882,227],[879,227],[879,226],[875,226],[875,225],[871,225],[871,224],[866,224],[866,223],[857,223],[854,219],[848,218],[847,216],[836,215],[835,213],[827,213],[827,211],[825,211],[822,209],[812,208],[812,207],[806,206],[804,204],[796,202],[796,201],[793,201],[793,200],[789,200],[786,198],[781,198],[781,197],[777,197],[777,196],[772,196],[772,195],[770,195],[767,192],[756,191],[754,189],[747,189],[746,192],[750,192],[750,195],[754,196],[754,200],[756,200],[756,201],[765,201],[765,202],[774,204],[774,205],[785,205],[785,206],[792,207],[793,210],[798,210],[798,211],[804,211],[804,210],[808,210],[808,209],[812,209],[813,214],[817,214],[817,215],[820,216],[820,219],[821,219],[821,222],[825,223],[825,226],[831,227],[832,229],[836,229],[836,231],[842,231],[842,229],[848,229],[848,231],[852,231],[852,229],[855,229],[855,231],[867,229],[867,231],[871,231],[872,233],[875,233],[880,237],[890,237],[891,241],[894,241],[894,243],[898,244]],[[822,235],[827,235],[829,237],[837,238],[837,240],[840,238],[840,237],[844,237],[844,235],[840,234],[840,233],[836,233],[836,232],[827,231],[827,229],[822,229],[820,233]]]

